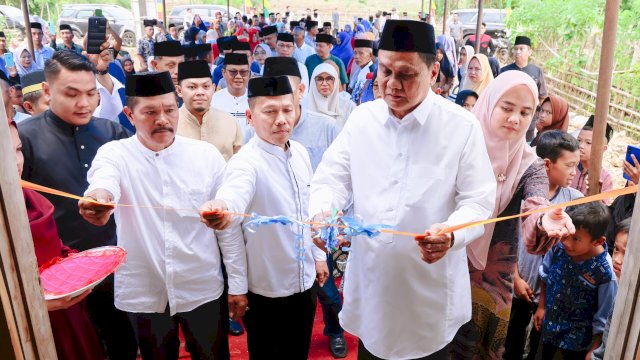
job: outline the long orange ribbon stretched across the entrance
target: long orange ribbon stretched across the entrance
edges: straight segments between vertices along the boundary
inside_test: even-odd
[[[52,189],[52,188],[48,188],[46,186],[34,184],[34,183],[31,183],[31,182],[28,182],[28,181],[25,181],[25,180],[21,180],[21,185],[25,189],[31,189],[31,190],[35,190],[35,191],[39,191],[39,192],[43,192],[43,193],[47,193],[47,194],[58,195],[58,196],[66,197],[66,198],[69,198],[69,199],[88,200],[88,201],[91,201],[91,202],[93,202],[95,204],[99,204],[99,205],[128,206],[128,207],[147,208],[147,209],[164,209],[164,210],[194,210],[194,209],[175,209],[175,208],[167,208],[167,207],[163,207],[163,206],[153,206],[153,205],[103,204],[103,203],[100,203],[98,201],[95,201],[95,200],[92,200],[92,199],[88,199],[86,197],[70,194],[70,193],[67,193],[67,192],[64,192],[64,191],[60,191],[60,190],[56,190],[56,189]],[[517,218],[520,218],[520,217],[525,217],[525,216],[529,216],[529,215],[533,215],[533,214],[541,214],[541,213],[545,213],[547,211],[551,211],[551,210],[555,210],[555,209],[562,209],[562,208],[566,208],[566,207],[573,206],[573,205],[586,204],[586,203],[590,203],[590,202],[593,202],[593,201],[602,201],[602,200],[614,198],[614,197],[617,197],[617,196],[620,196],[620,195],[632,194],[632,193],[635,193],[637,191],[638,191],[638,185],[628,186],[628,187],[625,187],[625,188],[622,188],[622,189],[611,190],[611,191],[607,191],[607,192],[600,193],[600,194],[597,194],[597,195],[592,195],[592,196],[586,196],[586,197],[583,197],[583,198],[580,198],[580,199],[577,199],[577,200],[568,201],[568,202],[564,202],[564,203],[561,203],[561,204],[555,204],[555,205],[551,205],[551,206],[544,207],[544,208],[538,208],[538,209],[535,209],[535,210],[527,211],[527,212],[516,214],[516,215],[503,216],[503,217],[487,219],[487,220],[480,220],[480,221],[471,221],[471,222],[467,222],[467,223],[464,223],[464,224],[453,225],[453,226],[450,226],[450,227],[447,227],[447,228],[443,229],[440,232],[440,234],[451,233],[451,232],[454,232],[454,231],[467,229],[467,228],[470,228],[470,227],[486,225],[486,224],[496,223],[496,222],[505,221],[505,220],[517,219]],[[198,210],[194,210],[194,211],[198,211]],[[251,217],[250,214],[241,214],[241,213],[233,213],[233,212],[226,212],[226,213],[230,214],[230,215],[233,215],[233,216]],[[314,222],[314,221],[307,221],[307,222],[304,222],[304,224],[326,226],[326,224],[324,224],[324,223],[319,223],[319,222]],[[345,227],[346,228],[346,226],[341,226],[341,227]],[[412,233],[412,232],[406,232],[406,231],[399,231],[399,230],[391,230],[391,229],[380,229],[380,232],[386,233],[386,234],[401,235],[401,236],[411,236],[411,237],[423,236],[424,235],[424,234],[418,234],[418,233]]]

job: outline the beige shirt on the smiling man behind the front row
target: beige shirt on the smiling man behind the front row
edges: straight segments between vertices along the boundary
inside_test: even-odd
[[[244,138],[233,116],[211,108],[202,118],[202,124],[183,105],[180,108],[178,135],[206,141],[220,151],[226,161],[233,156],[233,147],[242,146]]]

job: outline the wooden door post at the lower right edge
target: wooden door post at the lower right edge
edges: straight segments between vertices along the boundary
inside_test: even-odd
[[[612,0],[616,1],[616,0]],[[608,4],[607,4],[608,5]],[[640,195],[636,194],[636,201],[629,231],[629,241],[622,267],[622,278],[613,318],[609,328],[605,360],[633,360],[636,358],[636,348],[640,337]]]

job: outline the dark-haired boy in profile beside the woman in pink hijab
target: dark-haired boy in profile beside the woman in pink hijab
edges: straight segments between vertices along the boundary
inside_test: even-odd
[[[580,162],[579,146],[578,140],[560,130],[547,131],[538,140],[536,153],[545,163],[549,177],[548,199],[552,204],[572,201],[583,196],[580,191],[569,187],[576,175],[576,166]],[[542,259],[543,255],[527,252],[524,239],[520,238],[504,359],[523,358],[527,328],[540,299],[538,271]],[[540,332],[532,329],[526,359],[535,359],[539,340]]]

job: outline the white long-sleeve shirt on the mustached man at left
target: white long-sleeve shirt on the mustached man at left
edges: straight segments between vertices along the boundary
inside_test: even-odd
[[[116,207],[118,245],[127,260],[115,274],[115,305],[127,312],[187,312],[229,293],[247,292],[244,244],[216,238],[198,209],[213,198],[225,160],[204,141],[176,136],[162,151],[132,136],[103,145],[88,173],[89,188],[109,191],[115,202],[171,209]]]

